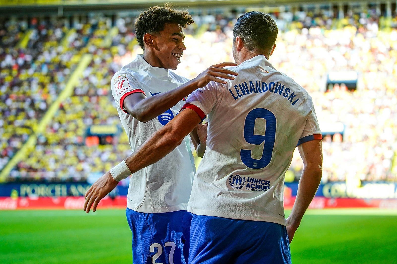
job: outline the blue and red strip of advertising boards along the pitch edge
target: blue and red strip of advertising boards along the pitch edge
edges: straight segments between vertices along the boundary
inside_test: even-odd
[[[128,181],[120,182],[99,208],[125,208]],[[24,182],[0,184],[0,209],[82,209],[88,182]],[[320,184],[309,208],[376,207],[397,209],[397,184],[364,182],[352,187],[346,182]],[[285,183],[284,207],[291,209],[298,182]]]

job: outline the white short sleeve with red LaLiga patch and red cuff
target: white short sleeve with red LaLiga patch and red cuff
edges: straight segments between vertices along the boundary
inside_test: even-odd
[[[139,83],[133,77],[133,75],[122,71],[116,72],[116,74],[113,76],[111,87],[114,99],[116,99],[121,110],[123,110],[127,114],[128,112],[125,111],[123,108],[125,97],[127,97],[131,93],[145,94],[145,92],[139,88]]]

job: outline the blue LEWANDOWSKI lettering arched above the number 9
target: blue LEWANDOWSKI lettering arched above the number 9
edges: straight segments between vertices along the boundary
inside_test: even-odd
[[[297,98],[297,95],[294,92],[291,93],[291,89],[289,89],[288,87],[285,87],[284,89],[284,87],[285,85],[281,82],[276,82],[276,84],[274,82],[270,82],[269,84],[267,84],[266,82],[261,81],[249,81],[249,87],[247,82],[242,82],[240,84],[234,85],[235,93],[237,93],[237,96],[231,89],[229,89],[229,92],[233,96],[234,100],[237,100],[240,97],[243,97],[244,95],[249,95],[251,93],[277,93],[278,95],[282,95],[292,105],[294,105],[297,101],[299,101],[299,98]]]

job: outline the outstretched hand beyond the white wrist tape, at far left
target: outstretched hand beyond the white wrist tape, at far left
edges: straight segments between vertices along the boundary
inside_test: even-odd
[[[96,211],[96,206],[99,201],[109,194],[119,182],[114,180],[108,171],[100,177],[93,185],[85,192],[84,211],[88,213],[93,206],[93,212]]]

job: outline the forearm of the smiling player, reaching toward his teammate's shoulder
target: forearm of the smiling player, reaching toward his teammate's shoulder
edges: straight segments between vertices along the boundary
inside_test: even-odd
[[[133,107],[124,105],[124,108],[140,122],[148,122],[172,108],[195,89],[197,89],[197,83],[191,80],[171,91],[150,96]]]

